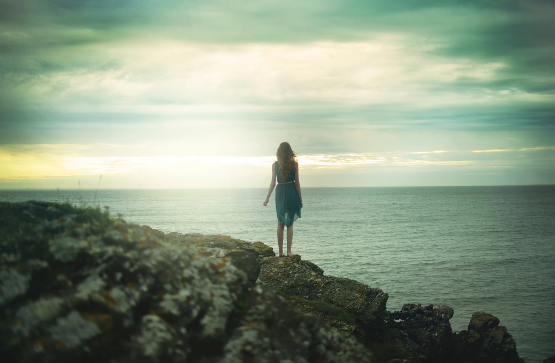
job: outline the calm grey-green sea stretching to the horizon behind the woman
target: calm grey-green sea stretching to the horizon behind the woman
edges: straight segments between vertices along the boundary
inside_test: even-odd
[[[2,201],[110,206],[165,233],[225,234],[277,251],[267,189],[0,190]],[[501,320],[528,363],[555,355],[555,186],[302,188],[292,250],[325,274],[407,302]]]

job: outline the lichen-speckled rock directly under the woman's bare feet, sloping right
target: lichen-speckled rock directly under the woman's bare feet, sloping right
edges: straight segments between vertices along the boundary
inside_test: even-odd
[[[387,294],[358,281],[326,276],[324,271],[300,256],[261,259],[260,281],[286,295],[322,301],[341,307],[357,324],[371,324],[385,311]]]

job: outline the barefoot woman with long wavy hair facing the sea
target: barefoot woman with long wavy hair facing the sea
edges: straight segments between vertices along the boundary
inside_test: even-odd
[[[264,206],[268,205],[270,195],[276,186],[276,213],[278,214],[279,256],[283,257],[283,230],[287,226],[287,256],[296,256],[291,252],[293,242],[293,222],[301,218],[302,198],[299,184],[299,163],[289,143],[281,143],[276,153],[278,161],[272,164],[272,180]]]

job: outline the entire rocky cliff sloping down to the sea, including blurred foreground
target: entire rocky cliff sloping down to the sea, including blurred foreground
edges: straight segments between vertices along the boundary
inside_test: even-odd
[[[0,203],[3,362],[522,361],[495,316],[386,302],[260,242]]]

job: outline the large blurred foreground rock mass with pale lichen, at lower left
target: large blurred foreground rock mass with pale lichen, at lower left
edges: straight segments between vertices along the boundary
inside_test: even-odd
[[[0,203],[0,231],[4,362],[373,361],[354,337],[254,285],[258,258],[246,250],[181,248],[55,203]]]

